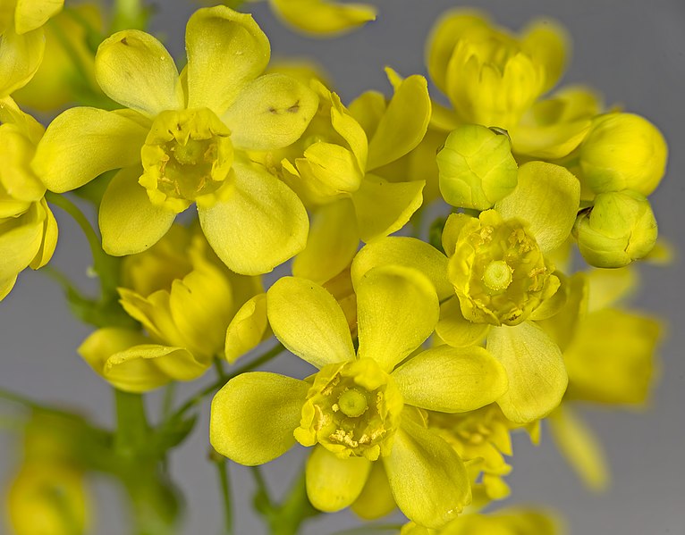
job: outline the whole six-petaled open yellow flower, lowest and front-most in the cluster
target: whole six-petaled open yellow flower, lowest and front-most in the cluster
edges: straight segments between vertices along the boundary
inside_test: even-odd
[[[290,277],[269,288],[276,337],[319,371],[307,380],[267,372],[230,380],[212,402],[210,440],[219,453],[248,465],[281,456],[296,440],[313,446],[307,490],[323,511],[351,506],[380,460],[402,512],[440,527],[468,504],[468,476],[418,409],[486,405],[506,389],[503,369],[482,347],[435,347],[405,360],[438,315],[435,290],[419,272],[372,270],[356,291],[355,353],[344,313],[324,288]]]

